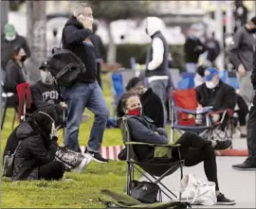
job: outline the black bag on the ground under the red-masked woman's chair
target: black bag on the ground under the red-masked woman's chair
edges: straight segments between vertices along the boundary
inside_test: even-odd
[[[133,181],[131,197],[143,203],[157,202],[159,186],[155,183]]]

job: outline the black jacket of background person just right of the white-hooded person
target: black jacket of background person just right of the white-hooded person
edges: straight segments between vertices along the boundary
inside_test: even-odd
[[[186,62],[197,63],[200,54],[204,53],[206,47],[199,39],[188,38],[184,45]]]

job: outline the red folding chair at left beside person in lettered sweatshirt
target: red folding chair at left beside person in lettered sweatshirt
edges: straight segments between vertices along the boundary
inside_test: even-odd
[[[19,96],[18,119],[21,123],[26,120],[27,116],[31,115],[32,96],[30,85],[27,82],[17,85],[16,89]]]

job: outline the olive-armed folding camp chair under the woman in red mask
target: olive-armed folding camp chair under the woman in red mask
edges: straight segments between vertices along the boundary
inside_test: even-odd
[[[134,181],[134,171],[136,170],[139,172],[143,177],[145,177],[148,181],[151,183],[159,183],[160,186],[166,189],[164,191],[160,187],[160,194],[159,194],[159,200],[161,201],[161,192],[164,193],[170,200],[179,199],[181,200],[181,193],[179,193],[179,197],[174,194],[169,188],[167,188],[163,183],[161,183],[161,180],[165,178],[166,176],[171,175],[176,171],[178,168],[180,168],[180,180],[183,178],[183,164],[184,161],[172,161],[172,149],[174,147],[178,148],[178,153],[180,157],[179,152],[179,145],[154,145],[154,144],[147,144],[147,143],[139,143],[139,142],[133,142],[131,139],[129,126],[127,123],[127,120],[131,116],[124,116],[119,119],[120,121],[120,130],[122,133],[122,140],[126,148],[126,163],[127,163],[127,184],[126,184],[126,193],[127,195],[131,195],[132,190],[132,183]],[[135,152],[134,147],[135,146],[151,146],[155,148],[155,157],[161,158],[165,157],[170,159],[170,163],[165,164],[151,164],[151,163],[144,163],[144,162],[138,162],[137,160],[137,154]],[[149,174],[154,181],[148,177]],[[158,179],[156,178],[158,177]],[[173,198],[172,198],[173,197]]]

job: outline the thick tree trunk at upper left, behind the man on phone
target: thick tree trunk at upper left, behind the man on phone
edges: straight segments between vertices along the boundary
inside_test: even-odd
[[[27,1],[27,43],[31,57],[26,68],[32,82],[40,78],[38,68],[46,61],[46,1]]]

